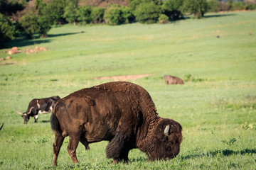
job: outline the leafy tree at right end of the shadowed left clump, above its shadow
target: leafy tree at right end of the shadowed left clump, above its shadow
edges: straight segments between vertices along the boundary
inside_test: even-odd
[[[25,31],[27,38],[32,39],[33,34],[39,33],[40,26],[38,23],[38,16],[35,14],[26,14],[21,17],[20,20],[21,27]]]

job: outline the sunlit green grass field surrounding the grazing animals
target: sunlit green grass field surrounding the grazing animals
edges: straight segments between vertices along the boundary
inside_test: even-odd
[[[65,25],[48,34],[11,42],[22,51],[47,51],[1,61],[0,169],[256,169],[256,11],[165,25]],[[0,57],[7,56],[4,50]],[[175,159],[149,162],[133,149],[129,163],[114,166],[105,156],[107,142],[97,142],[90,151],[80,144],[80,164],[73,164],[66,137],[53,167],[50,114],[24,125],[15,111],[26,111],[33,98],[62,98],[112,81],[95,77],[134,74],[151,74],[129,81],[149,91],[161,117],[183,126]],[[167,86],[164,74],[186,82]]]

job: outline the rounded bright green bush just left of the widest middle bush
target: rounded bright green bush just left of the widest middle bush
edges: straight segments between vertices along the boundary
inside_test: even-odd
[[[115,26],[125,22],[121,6],[112,5],[105,11],[105,21],[107,24]]]

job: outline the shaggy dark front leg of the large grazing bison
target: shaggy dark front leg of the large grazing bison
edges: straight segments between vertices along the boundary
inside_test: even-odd
[[[124,147],[126,144],[126,140],[122,138],[122,135],[120,132],[117,132],[117,134],[114,136],[114,138],[110,141],[110,143],[107,145],[106,154],[107,158],[113,159],[113,164],[117,164],[119,161],[128,161],[128,152],[129,149],[127,147]]]

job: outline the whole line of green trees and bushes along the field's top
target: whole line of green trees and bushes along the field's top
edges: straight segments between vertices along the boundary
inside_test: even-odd
[[[0,45],[18,35],[46,38],[53,25],[169,23],[184,17],[202,18],[206,12],[254,10],[256,0],[119,0],[99,6],[100,0],[0,0]],[[96,3],[97,2],[97,3]],[[112,2],[112,3],[111,3]]]

